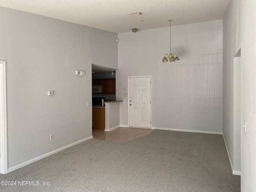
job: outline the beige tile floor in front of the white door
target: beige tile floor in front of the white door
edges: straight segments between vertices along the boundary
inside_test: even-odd
[[[93,129],[92,136],[94,139],[125,142],[143,137],[150,134],[152,131],[152,129],[130,127],[119,127],[112,131]]]

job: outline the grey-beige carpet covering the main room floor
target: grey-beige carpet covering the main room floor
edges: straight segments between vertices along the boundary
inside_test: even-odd
[[[1,192],[240,192],[222,135],[163,130],[128,142],[91,139],[0,181],[17,182]]]

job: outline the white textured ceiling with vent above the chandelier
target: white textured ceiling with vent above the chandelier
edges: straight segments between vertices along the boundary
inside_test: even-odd
[[[0,6],[116,33],[222,19],[230,0],[0,0]],[[128,14],[141,12],[140,16]]]

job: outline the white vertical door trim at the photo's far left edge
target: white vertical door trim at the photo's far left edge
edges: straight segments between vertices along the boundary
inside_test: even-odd
[[[8,172],[7,112],[6,112],[6,61],[0,60],[0,174]]]

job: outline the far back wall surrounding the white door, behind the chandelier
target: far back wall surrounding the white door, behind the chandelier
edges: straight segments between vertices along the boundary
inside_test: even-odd
[[[222,133],[222,20],[173,26],[180,61],[163,63],[169,36],[169,27],[118,34],[120,124],[128,125],[128,76],[150,75],[153,127]]]

